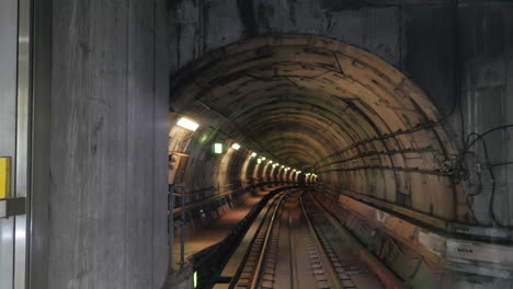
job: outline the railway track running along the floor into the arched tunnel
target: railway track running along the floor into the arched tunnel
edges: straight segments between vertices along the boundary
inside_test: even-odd
[[[386,288],[303,189],[274,197],[228,285],[214,288]]]

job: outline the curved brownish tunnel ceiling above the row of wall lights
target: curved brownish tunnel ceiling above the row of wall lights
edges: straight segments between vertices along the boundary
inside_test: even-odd
[[[430,99],[391,65],[333,39],[262,36],[210,51],[172,79],[171,111],[353,189],[385,189],[378,170],[410,196],[422,182],[412,173],[454,190],[434,162],[454,148]]]

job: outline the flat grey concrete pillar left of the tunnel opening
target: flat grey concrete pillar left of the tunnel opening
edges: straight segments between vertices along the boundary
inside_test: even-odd
[[[39,218],[32,285],[160,288],[167,271],[166,1],[44,2],[53,9],[36,4],[35,21],[52,18],[52,43],[35,48],[35,63],[49,49],[44,67],[50,77],[36,69],[34,91],[45,77],[50,88],[46,106],[34,111],[35,119],[50,119],[37,130],[49,138],[36,137],[48,146],[49,166],[41,161],[35,178],[45,183],[48,173],[49,182],[48,189],[34,189],[41,201],[33,205]],[[35,149],[34,159],[44,153]]]

